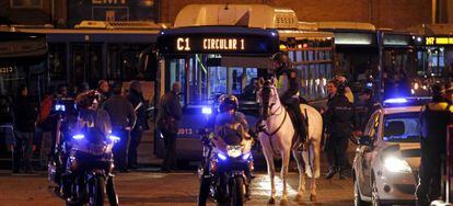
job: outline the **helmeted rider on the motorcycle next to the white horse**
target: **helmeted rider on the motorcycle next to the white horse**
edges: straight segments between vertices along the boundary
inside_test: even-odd
[[[219,98],[218,115],[214,121],[214,131],[211,136],[211,142],[214,148],[224,147],[226,145],[245,145],[252,144],[253,138],[248,134],[248,123],[245,115],[237,111],[239,100],[235,95],[223,94]],[[219,139],[222,138],[222,139]],[[213,154],[214,152],[212,152]],[[212,156],[211,154],[211,156]],[[210,157],[208,157],[210,158]],[[208,164],[209,161],[207,161]],[[208,167],[205,167],[208,168]],[[209,181],[210,179],[201,178],[200,192],[198,196],[198,205],[206,205],[206,201],[209,195]],[[251,171],[245,171],[248,180],[251,180]],[[249,196],[249,190],[246,190],[247,197]]]

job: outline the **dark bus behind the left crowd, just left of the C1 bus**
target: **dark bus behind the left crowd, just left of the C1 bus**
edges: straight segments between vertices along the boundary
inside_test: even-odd
[[[46,35],[48,76],[53,85],[79,87],[82,82],[97,88],[100,80],[144,81],[147,100],[152,96],[153,72],[140,70],[140,55],[155,43],[165,24],[153,22],[82,21],[74,28],[19,26],[22,32]]]

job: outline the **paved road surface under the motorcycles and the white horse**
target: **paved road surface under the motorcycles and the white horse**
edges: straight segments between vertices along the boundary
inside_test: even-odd
[[[116,187],[120,205],[195,205],[198,194],[198,179],[191,171],[160,173],[148,168],[116,176]],[[352,183],[350,180],[332,181],[320,179],[317,182],[317,202],[293,201],[298,188],[298,174],[290,173],[289,205],[353,205]],[[277,195],[281,194],[281,180],[277,178]],[[307,181],[307,184],[310,182]],[[265,173],[258,172],[253,180],[252,199],[246,205],[266,205],[269,194],[269,181]],[[279,201],[279,197],[277,198]],[[277,202],[278,204],[279,202]],[[51,184],[44,172],[34,175],[11,175],[10,171],[0,171],[0,205],[46,205],[57,206],[65,203],[53,193]],[[214,205],[211,203],[210,205]]]

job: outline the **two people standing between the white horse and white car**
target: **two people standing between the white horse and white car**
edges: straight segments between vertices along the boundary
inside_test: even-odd
[[[361,136],[370,116],[381,105],[373,100],[373,91],[364,88],[355,102],[346,78],[338,76],[327,83],[328,102],[322,111],[325,128],[325,151],[329,170],[326,179],[339,173],[340,179],[349,176],[351,164],[347,150],[351,136]]]

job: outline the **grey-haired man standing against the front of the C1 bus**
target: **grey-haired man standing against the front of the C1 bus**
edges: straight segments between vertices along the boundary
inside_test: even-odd
[[[165,142],[165,158],[162,163],[162,171],[164,172],[176,170],[176,135],[183,116],[179,92],[179,82],[173,83],[172,90],[162,98],[159,110],[158,127]]]

